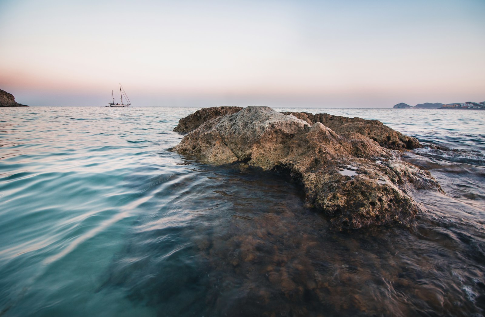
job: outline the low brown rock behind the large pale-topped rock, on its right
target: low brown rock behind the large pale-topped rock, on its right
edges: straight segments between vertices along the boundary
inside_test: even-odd
[[[337,134],[360,133],[379,143],[382,147],[400,150],[420,147],[419,141],[411,136],[392,130],[378,120],[365,120],[359,117],[348,118],[328,114],[310,114],[307,112],[282,112],[307,121],[310,125],[321,122]]]

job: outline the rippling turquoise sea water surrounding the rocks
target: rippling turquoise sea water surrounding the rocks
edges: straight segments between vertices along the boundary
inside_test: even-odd
[[[408,227],[336,231],[300,184],[169,151],[199,108],[0,109],[0,316],[484,316],[485,111],[377,119],[445,194]]]

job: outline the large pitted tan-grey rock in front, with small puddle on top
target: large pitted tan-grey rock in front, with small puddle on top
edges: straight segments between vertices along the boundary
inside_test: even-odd
[[[421,211],[412,190],[441,190],[429,172],[400,160],[399,151],[355,131],[337,134],[320,122],[328,115],[318,120],[300,115],[305,116],[309,121],[268,107],[247,107],[203,123],[172,150],[215,164],[241,161],[287,171],[303,184],[307,205],[321,209],[340,229],[406,224]],[[335,120],[339,127],[385,127],[360,118]]]

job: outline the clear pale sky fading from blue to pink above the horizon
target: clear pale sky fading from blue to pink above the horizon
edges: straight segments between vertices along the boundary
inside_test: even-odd
[[[38,106],[485,100],[485,0],[0,0],[0,89]],[[118,100],[119,101],[119,100]]]

